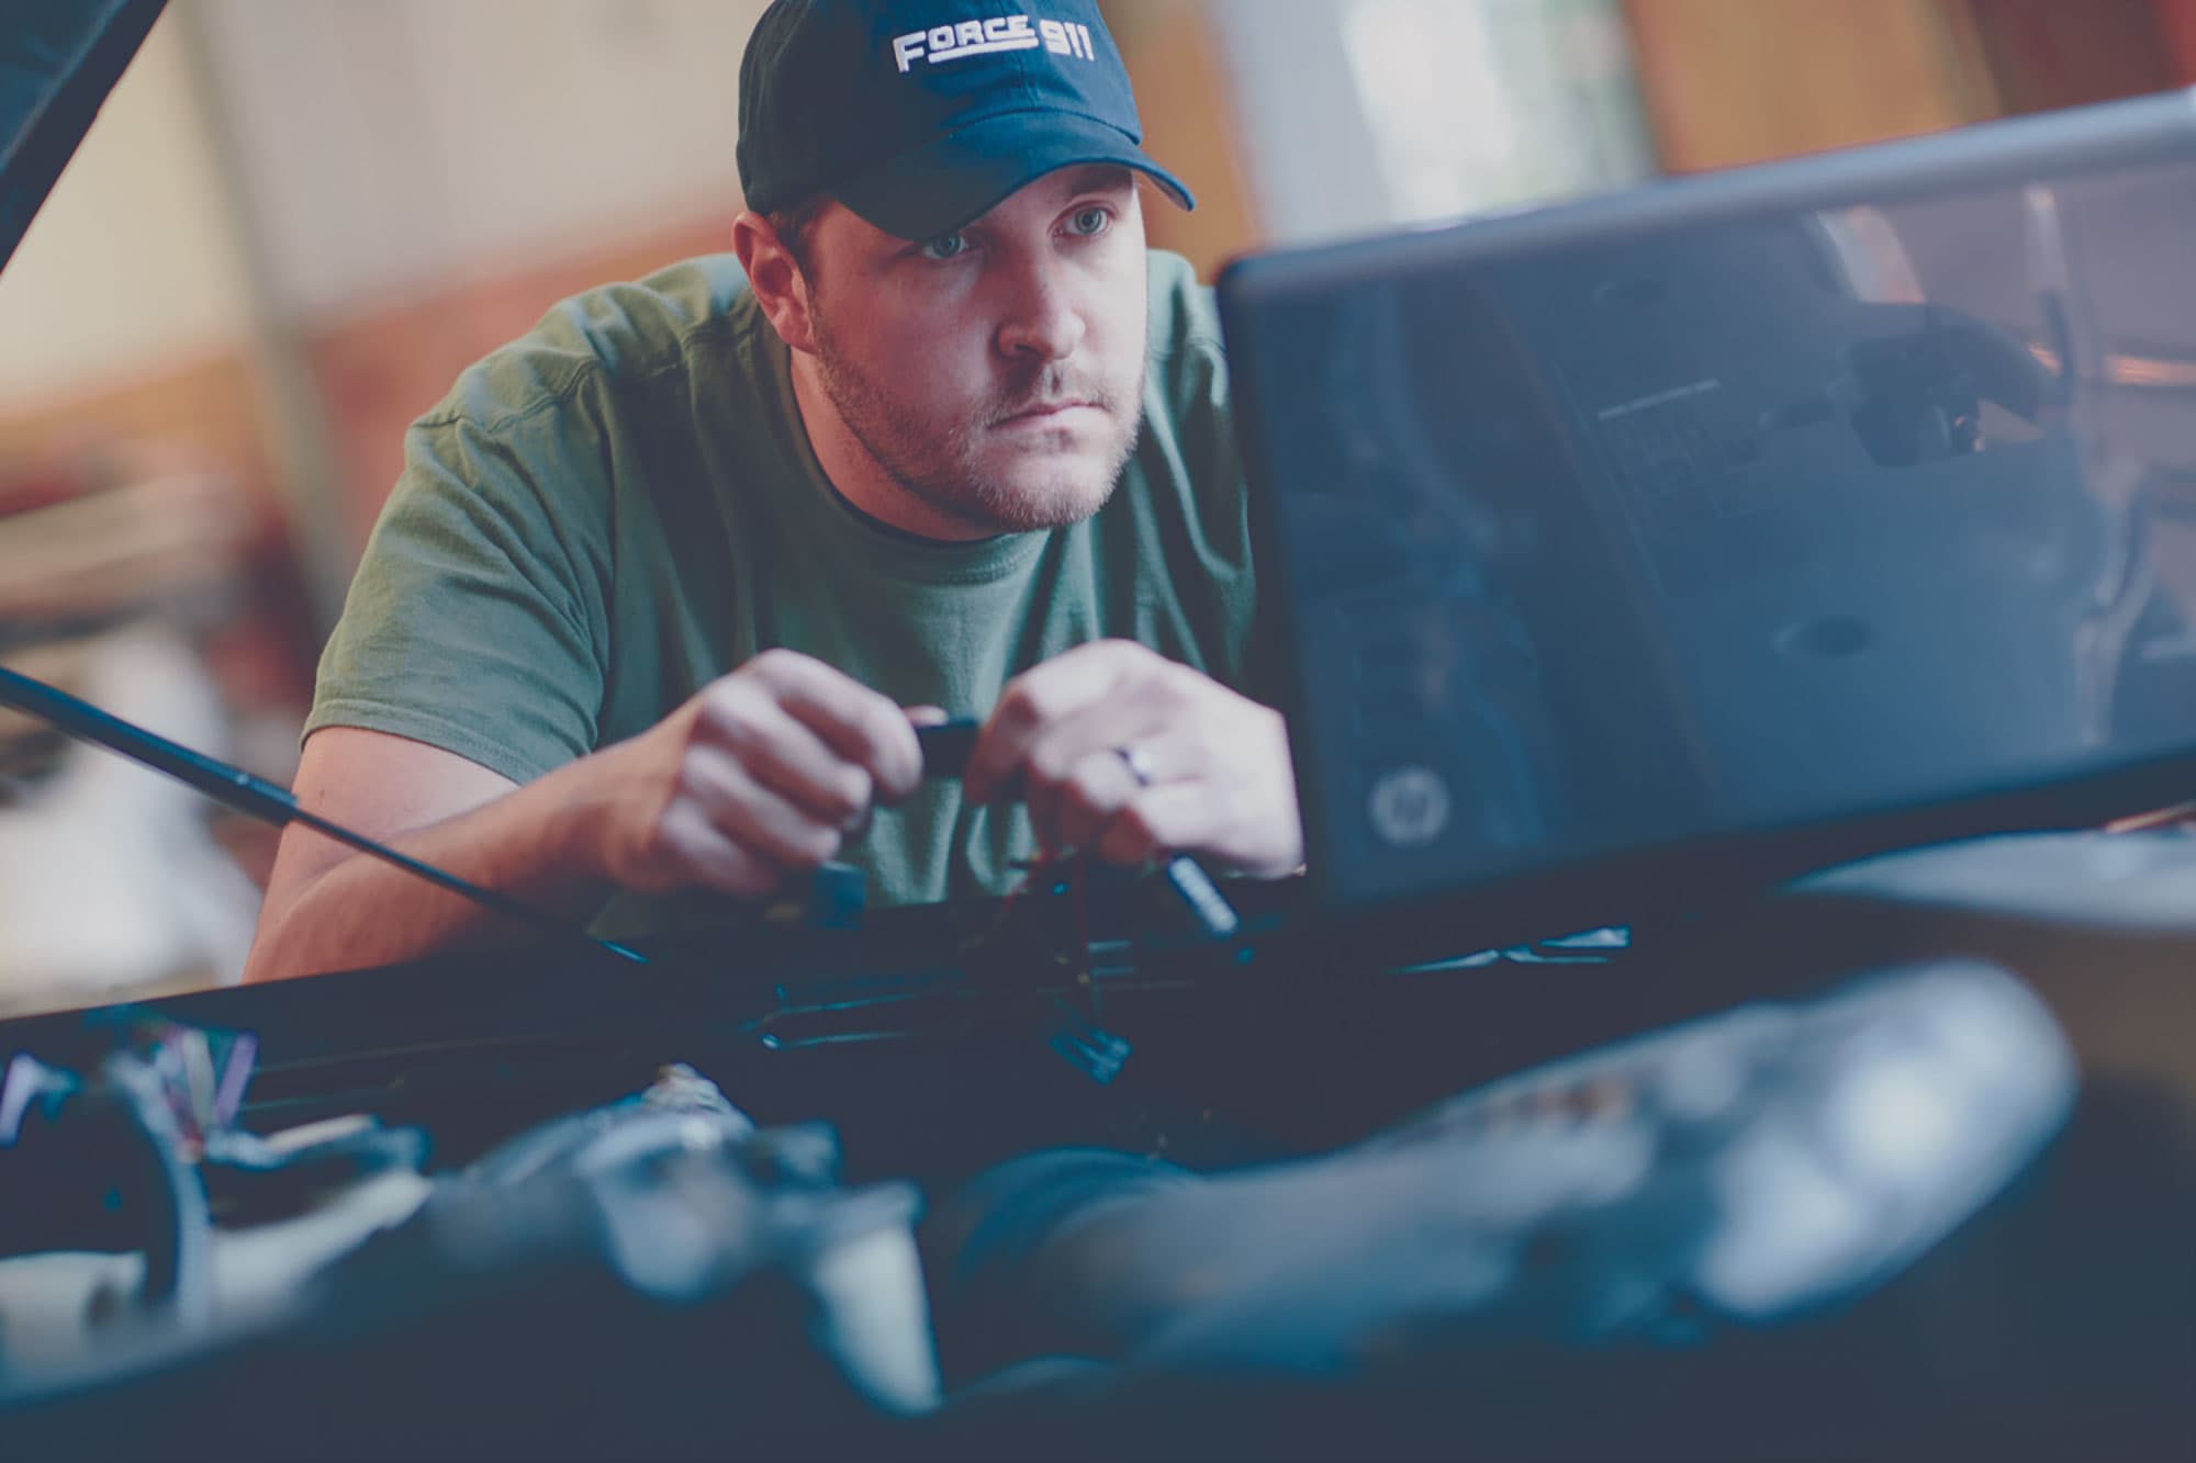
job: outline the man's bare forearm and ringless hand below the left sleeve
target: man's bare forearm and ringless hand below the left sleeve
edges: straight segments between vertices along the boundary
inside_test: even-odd
[[[909,716],[845,674],[766,650],[632,740],[518,786],[455,751],[362,727],[305,740],[296,797],[540,909],[586,918],[610,885],[777,890],[830,859],[876,802],[916,789]],[[246,980],[413,960],[496,916],[292,824]]]

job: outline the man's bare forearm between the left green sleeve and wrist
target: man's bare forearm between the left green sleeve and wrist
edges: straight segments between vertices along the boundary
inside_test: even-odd
[[[595,819],[580,764],[439,824],[386,839],[397,852],[584,920],[610,885],[595,857]],[[325,839],[292,824],[283,839]],[[494,942],[518,925],[463,894],[351,850],[294,890],[268,892],[244,980],[389,964]]]

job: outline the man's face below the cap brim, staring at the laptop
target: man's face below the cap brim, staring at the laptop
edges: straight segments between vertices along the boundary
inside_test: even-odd
[[[922,244],[830,206],[806,255],[824,393],[903,490],[984,534],[1105,505],[1144,398],[1129,169],[1047,174]]]

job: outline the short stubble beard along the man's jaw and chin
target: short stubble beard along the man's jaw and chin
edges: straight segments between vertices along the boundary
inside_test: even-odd
[[[1144,400],[1142,351],[1138,351],[1135,384],[1127,393],[1109,391],[1083,373],[1050,365],[982,402],[968,417],[940,428],[918,417],[859,362],[837,349],[834,332],[821,312],[815,316],[815,336],[817,378],[824,398],[845,428],[894,483],[955,523],[986,534],[1028,534],[1080,523],[1113,496],[1120,470],[1135,453]],[[986,426],[1034,400],[1061,395],[1105,409],[1113,424],[1113,442],[1105,444],[1096,457],[1078,453],[1069,461],[1047,464],[1034,481],[1030,481],[1028,468],[1015,479],[990,472],[982,461]],[[1124,400],[1135,409],[1122,411]],[[1102,470],[1094,470],[1094,461]]]

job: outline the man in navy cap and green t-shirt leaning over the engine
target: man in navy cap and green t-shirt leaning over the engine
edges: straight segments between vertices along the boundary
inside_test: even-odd
[[[1217,325],[1135,178],[1190,196],[1138,141],[1087,0],[773,4],[738,272],[567,301],[415,424],[305,806],[538,905],[619,894],[619,931],[832,857],[878,901],[1037,848],[1291,870]],[[957,789],[911,705],[988,714]],[[492,920],[292,830],[246,975]]]

